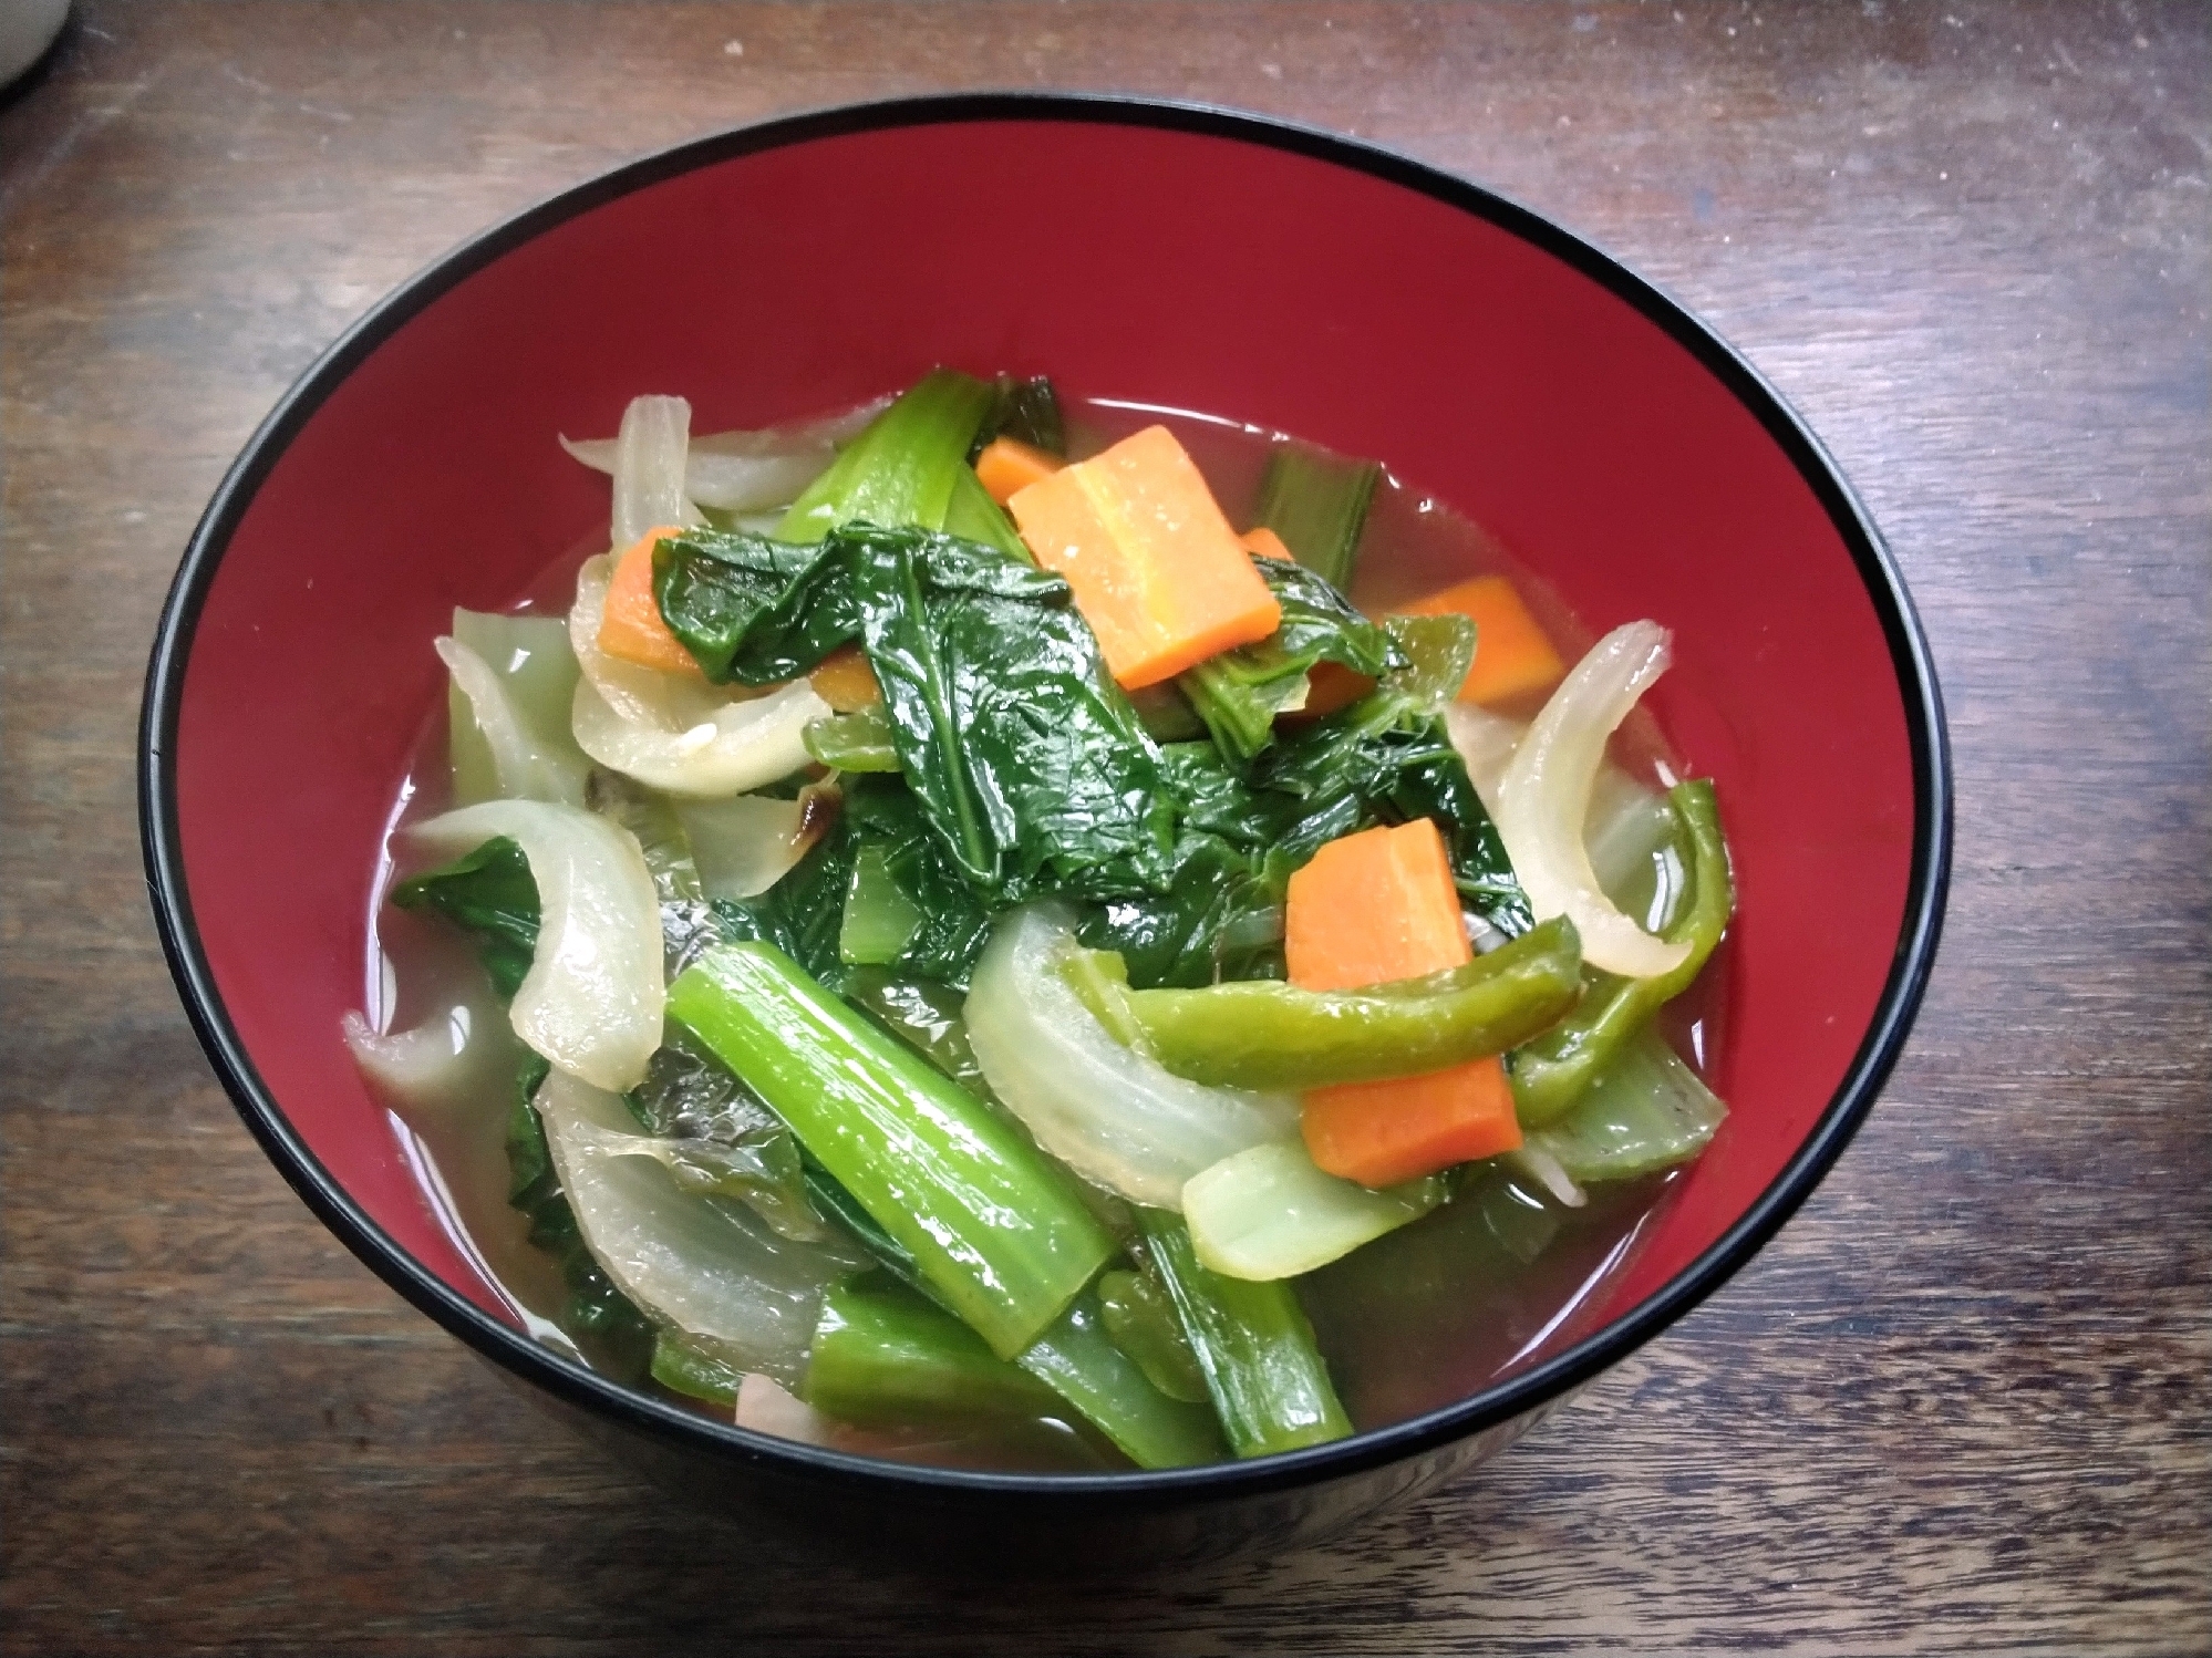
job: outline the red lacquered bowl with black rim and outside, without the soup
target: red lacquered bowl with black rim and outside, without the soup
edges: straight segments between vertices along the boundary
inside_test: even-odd
[[[978,179],[991,179],[978,190]],[[849,1457],[630,1393],[531,1342],[434,1222],[338,1039],[363,1004],[429,639],[606,522],[555,431],[637,391],[697,429],[858,402],[936,363],[1380,455],[1593,626],[1661,617],[1655,712],[1736,860],[1734,1112],[1588,1333],[1318,1450],[1040,1477]],[[1478,186],[1248,115],[940,97],[686,144],[447,254],[292,387],[223,480],[146,690],[142,811],[186,1010],[338,1238],[586,1430],[710,1501],[880,1539],[1091,1559],[1321,1536],[1506,1446],[1681,1318],[1805,1200],[1911,1024],[1942,917],[1942,707],[1874,524],[1708,327]],[[1102,1539],[1110,1547],[1102,1550]]]

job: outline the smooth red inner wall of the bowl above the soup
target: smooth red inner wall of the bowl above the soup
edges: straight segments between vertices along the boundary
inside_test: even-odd
[[[1672,626],[1655,707],[1719,780],[1741,882],[1717,1079],[1734,1114],[1610,1309],[1776,1183],[1891,979],[1913,727],[1869,575],[1717,349],[1509,210],[1232,130],[953,119],[661,172],[493,237],[372,318],[349,371],[310,378],[188,643],[175,836],[212,984],[301,1141],[403,1249],[498,1309],[338,1041],[385,816],[442,685],[429,639],[604,524],[606,484],[553,433],[613,431],[639,391],[688,396],[697,429],[768,424],[936,363],[1380,455],[1593,630]],[[993,188],[947,183],[975,177]]]

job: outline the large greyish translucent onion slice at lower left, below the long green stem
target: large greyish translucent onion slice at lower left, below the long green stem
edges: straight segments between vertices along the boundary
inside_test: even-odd
[[[538,1114],[577,1231],[599,1269],[657,1324],[737,1371],[805,1375],[830,1284],[863,1267],[849,1247],[779,1238],[743,1203],[677,1189],[615,1094],[553,1072]]]

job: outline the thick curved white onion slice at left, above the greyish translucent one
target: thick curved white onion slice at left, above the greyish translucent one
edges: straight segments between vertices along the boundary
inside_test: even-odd
[[[515,990],[515,1035],[597,1088],[637,1088],[661,1046],[661,906],[635,836],[580,807],[487,800],[416,825],[409,840],[458,858],[507,836],[538,882],[538,955]]]

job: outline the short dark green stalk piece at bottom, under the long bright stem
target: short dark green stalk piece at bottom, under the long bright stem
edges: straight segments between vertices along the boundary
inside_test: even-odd
[[[1060,1395],[998,1357],[951,1313],[889,1278],[847,1278],[823,1300],[805,1399],[863,1428],[1042,1417]]]

